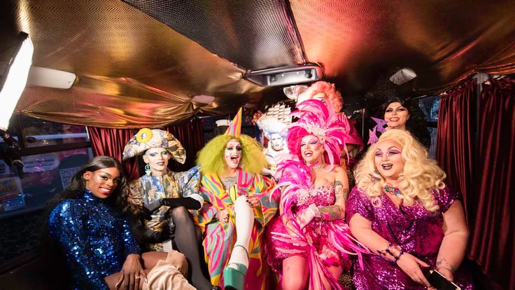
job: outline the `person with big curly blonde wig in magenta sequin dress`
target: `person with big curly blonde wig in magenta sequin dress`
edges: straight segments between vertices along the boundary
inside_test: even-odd
[[[472,289],[459,267],[468,237],[463,205],[445,177],[404,130],[386,131],[369,148],[346,203],[353,235],[375,253],[354,267],[356,289],[427,289],[430,268]]]

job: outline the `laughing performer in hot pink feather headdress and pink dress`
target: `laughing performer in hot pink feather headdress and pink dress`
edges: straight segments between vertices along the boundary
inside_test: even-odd
[[[340,166],[344,123],[318,99],[297,105],[288,149],[280,163],[281,215],[267,232],[268,262],[281,277],[281,289],[342,289],[341,272],[349,255],[360,254],[344,222],[348,179]],[[299,276],[300,275],[300,276]]]

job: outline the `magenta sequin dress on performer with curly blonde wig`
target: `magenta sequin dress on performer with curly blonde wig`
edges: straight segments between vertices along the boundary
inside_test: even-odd
[[[360,214],[372,222],[372,230],[388,242],[398,244],[403,251],[435,268],[440,244],[444,237],[443,213],[451,207],[460,195],[444,188],[433,192],[439,205],[436,213],[428,212],[421,203],[413,206],[397,207],[383,193],[377,205],[358,188],[353,188],[346,202],[346,216],[349,221],[354,214]],[[395,263],[379,255],[363,255],[364,268],[354,265],[353,281],[356,289],[426,289],[414,282]],[[456,284],[461,289],[473,289],[469,273],[459,268],[454,274]]]

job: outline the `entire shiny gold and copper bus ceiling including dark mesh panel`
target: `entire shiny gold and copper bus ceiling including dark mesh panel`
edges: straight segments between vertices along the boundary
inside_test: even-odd
[[[514,1],[4,0],[0,64],[20,31],[33,66],[69,71],[68,90],[28,85],[16,112],[97,127],[159,127],[195,114],[285,99],[248,71],[306,63],[344,97],[380,102],[393,68],[417,78],[401,90],[442,92],[515,63]],[[210,104],[191,102],[211,95]],[[374,100],[374,97],[376,98]]]

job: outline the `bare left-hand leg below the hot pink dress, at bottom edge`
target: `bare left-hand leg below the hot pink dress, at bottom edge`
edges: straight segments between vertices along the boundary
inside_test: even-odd
[[[291,256],[283,260],[281,290],[304,290],[308,282],[308,260],[301,256]]]

